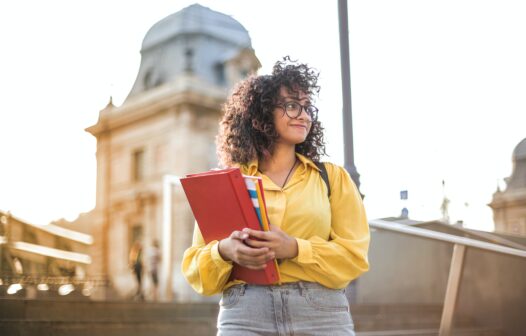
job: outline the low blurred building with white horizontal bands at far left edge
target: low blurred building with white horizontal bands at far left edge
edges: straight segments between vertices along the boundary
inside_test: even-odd
[[[0,297],[72,292],[76,297],[90,296],[97,282],[86,276],[92,243],[90,235],[54,224],[32,224],[0,211]]]

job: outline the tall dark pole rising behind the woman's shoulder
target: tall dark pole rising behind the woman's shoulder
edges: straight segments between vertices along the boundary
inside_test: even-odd
[[[347,18],[347,0],[338,0],[338,18],[340,27],[340,60],[342,73],[342,118],[344,166],[353,182],[360,190],[360,174],[354,165],[352,105],[351,105],[351,67],[349,62],[349,20]],[[361,194],[361,192],[360,192]],[[362,198],[363,198],[362,194]]]

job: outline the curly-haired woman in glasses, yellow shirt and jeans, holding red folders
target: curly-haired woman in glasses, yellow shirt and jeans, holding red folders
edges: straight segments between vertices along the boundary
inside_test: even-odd
[[[318,74],[284,58],[272,75],[241,82],[217,138],[222,165],[261,176],[271,231],[234,231],[205,244],[195,228],[183,273],[203,295],[223,293],[218,335],[354,335],[344,290],[369,268],[369,229],[347,172],[326,163],[330,197],[315,162],[325,153],[311,103]],[[233,263],[262,269],[277,259],[281,284],[230,279]]]

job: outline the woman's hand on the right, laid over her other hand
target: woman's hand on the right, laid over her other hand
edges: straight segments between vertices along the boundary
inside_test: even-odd
[[[249,238],[245,239],[245,244],[251,247],[268,247],[274,252],[276,259],[292,259],[298,255],[296,239],[277,226],[270,225],[270,231],[244,228],[243,232],[249,234]]]

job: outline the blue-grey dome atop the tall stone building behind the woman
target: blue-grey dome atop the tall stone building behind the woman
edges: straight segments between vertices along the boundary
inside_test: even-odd
[[[237,61],[247,51],[251,55],[244,56],[244,62]],[[234,71],[232,63],[237,64]],[[258,67],[250,36],[239,22],[194,4],[165,17],[146,33],[139,72],[126,101],[189,74],[229,89],[232,80],[239,77],[233,72],[246,74]]]

